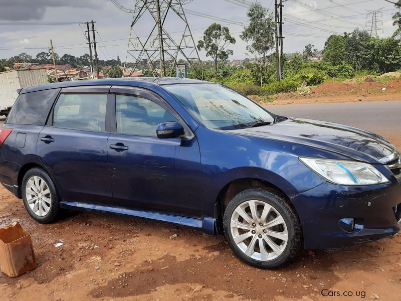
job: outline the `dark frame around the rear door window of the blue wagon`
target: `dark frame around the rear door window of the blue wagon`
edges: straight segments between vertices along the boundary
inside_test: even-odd
[[[48,127],[55,127],[55,128],[63,128],[63,129],[72,129],[72,130],[80,130],[80,131],[86,131],[86,132],[93,132],[93,133],[110,133],[111,127],[110,127],[110,106],[112,103],[111,99],[111,94],[109,93],[111,86],[83,86],[83,87],[68,87],[68,88],[63,88],[59,92],[59,94],[56,97],[56,100],[53,103],[52,109],[50,111],[48,120],[45,123],[45,126]],[[86,89],[88,88],[88,89]],[[96,88],[96,89],[95,89]],[[76,94],[76,95],[82,95],[82,94],[99,94],[99,95],[107,95],[106,99],[106,112],[105,112],[105,130],[104,131],[96,131],[96,130],[87,130],[87,129],[81,129],[81,128],[74,128],[74,127],[63,127],[63,126],[55,126],[53,125],[53,120],[54,120],[54,109],[57,105],[57,102],[60,99],[61,95],[70,95],[70,94]]]

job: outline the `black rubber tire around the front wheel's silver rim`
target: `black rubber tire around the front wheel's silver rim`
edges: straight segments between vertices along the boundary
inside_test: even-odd
[[[285,245],[285,248],[282,250],[282,253],[274,259],[262,261],[262,260],[257,260],[257,259],[251,258],[250,256],[246,255],[244,253],[244,251],[242,249],[240,249],[240,247],[237,246],[237,244],[234,241],[233,233],[231,231],[231,218],[233,216],[233,213],[238,206],[240,206],[242,204],[244,206],[244,202],[251,201],[251,200],[257,200],[258,202],[263,202],[263,203],[269,204],[275,210],[277,210],[278,213],[280,213],[280,215],[282,216],[282,218],[285,222],[285,226],[287,228],[286,230],[287,230],[288,240]],[[260,208],[258,206],[260,206],[260,205],[257,205],[257,208]],[[271,212],[273,212],[273,213],[271,213],[271,215],[273,215],[273,218],[274,218],[275,212],[274,211],[271,211]],[[261,217],[260,212],[258,212],[258,215],[259,215],[259,217]],[[271,215],[269,214],[269,216],[271,216]],[[241,217],[241,219],[242,219],[242,217]],[[249,223],[246,222],[246,224],[249,224]],[[286,200],[282,196],[280,196],[279,194],[277,194],[273,191],[270,191],[270,190],[247,189],[247,190],[239,193],[238,195],[236,195],[230,201],[230,203],[228,204],[228,206],[225,210],[223,225],[224,225],[224,232],[225,232],[226,239],[227,239],[228,243],[230,244],[230,247],[233,250],[234,254],[237,255],[245,263],[252,265],[254,267],[257,267],[257,268],[274,269],[274,268],[281,267],[285,263],[288,263],[296,255],[296,253],[298,252],[298,250],[301,247],[302,231],[301,231],[301,226],[298,221],[297,215],[295,214],[294,210],[287,204]],[[279,225],[278,227],[284,227],[284,225]],[[258,228],[259,229],[256,229],[256,228],[254,228],[254,229],[256,229],[257,231],[261,231],[262,227],[258,227]],[[284,229],[284,228],[282,228],[282,229]],[[244,230],[244,232],[242,234],[247,233],[247,231],[248,230]],[[249,232],[252,232],[252,231],[249,230]],[[256,234],[253,236],[258,235],[257,232],[255,232],[255,233]],[[266,232],[264,232],[264,233],[266,233]],[[238,233],[237,233],[237,235],[238,235]],[[265,237],[263,235],[264,234],[261,233],[261,234],[259,234],[259,237]],[[266,234],[266,236],[267,236],[267,234]],[[252,240],[251,237],[247,238],[247,239]],[[255,237],[255,241],[256,241],[256,239],[257,238]],[[246,241],[246,240],[244,240],[244,241]],[[259,242],[259,240],[258,240],[258,242]],[[255,242],[255,246],[258,242]],[[278,240],[278,243],[282,243],[284,245],[283,241]],[[250,244],[250,242],[249,242],[249,244]],[[246,243],[245,243],[245,246],[246,246]],[[266,243],[265,246],[268,246],[268,244]],[[259,245],[256,248],[259,248]],[[257,250],[257,249],[253,249],[253,250]],[[260,250],[260,248],[259,248],[259,250]],[[270,250],[272,251],[273,249],[270,248]],[[259,252],[262,253],[261,251],[259,251]],[[254,254],[257,254],[257,253],[254,253]],[[275,253],[273,253],[273,254],[275,254]]]

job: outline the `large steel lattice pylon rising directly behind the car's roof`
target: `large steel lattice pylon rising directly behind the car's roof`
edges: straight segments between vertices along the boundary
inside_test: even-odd
[[[135,0],[133,9],[111,1],[119,10],[133,15],[124,64],[124,69],[130,68],[129,76],[143,60],[153,76],[173,76],[175,64],[183,59],[202,77],[199,54],[182,7],[191,0]],[[174,39],[166,29],[167,17],[174,28],[181,25],[180,37]]]

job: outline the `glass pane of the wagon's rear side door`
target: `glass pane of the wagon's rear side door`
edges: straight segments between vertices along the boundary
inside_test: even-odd
[[[61,94],[53,126],[105,131],[107,94]]]

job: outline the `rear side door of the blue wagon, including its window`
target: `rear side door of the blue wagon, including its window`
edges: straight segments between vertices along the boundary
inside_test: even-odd
[[[38,156],[65,202],[112,201],[106,126],[110,86],[63,88],[38,137]]]

